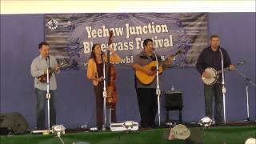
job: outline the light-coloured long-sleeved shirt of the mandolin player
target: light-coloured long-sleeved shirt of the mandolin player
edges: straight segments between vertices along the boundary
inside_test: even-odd
[[[54,56],[50,56],[50,67],[55,68],[58,66],[56,58]],[[44,70],[48,68],[48,60],[46,58],[43,58],[40,54],[37,58],[34,58],[32,64],[31,64],[31,75],[34,77],[34,88],[37,88],[39,90],[47,90],[47,83],[42,83],[38,81],[38,77],[44,74]],[[57,74],[59,74],[60,71],[58,71]],[[55,73],[53,73],[50,77],[50,90],[56,90],[57,89],[57,82]]]

